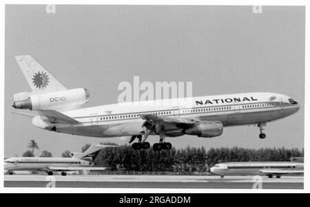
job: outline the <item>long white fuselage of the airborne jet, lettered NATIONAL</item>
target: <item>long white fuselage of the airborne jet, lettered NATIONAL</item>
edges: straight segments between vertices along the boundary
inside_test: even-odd
[[[170,100],[167,105],[163,102],[165,100],[156,100],[153,105],[152,101],[130,102],[61,111],[80,124],[53,124],[39,116],[33,123],[43,129],[55,127],[55,131],[61,133],[110,138],[142,134],[144,120],[139,116],[141,114],[198,122],[219,121],[223,127],[230,127],[271,122],[296,113],[300,107],[289,96],[276,93],[200,96],[185,105],[178,104],[180,99]],[[165,135],[176,137],[183,133],[167,131]]]

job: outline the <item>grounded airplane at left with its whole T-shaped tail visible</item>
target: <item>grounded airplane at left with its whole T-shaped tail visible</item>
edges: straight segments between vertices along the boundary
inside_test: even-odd
[[[71,153],[71,157],[10,157],[4,160],[4,169],[9,175],[13,171],[45,171],[53,175],[54,171],[104,171],[106,167],[95,167],[94,159],[101,149],[114,145],[92,144],[83,153]]]

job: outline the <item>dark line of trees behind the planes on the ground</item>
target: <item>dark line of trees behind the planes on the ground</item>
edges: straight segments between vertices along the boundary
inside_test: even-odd
[[[101,143],[116,145],[114,143]],[[85,144],[81,152],[90,144]],[[23,157],[34,157],[34,149],[39,149],[37,142],[30,140],[30,150]],[[64,151],[62,157],[70,157],[70,151]],[[101,149],[94,159],[96,166],[109,167],[110,171],[145,171],[174,173],[194,173],[208,171],[211,166],[220,162],[278,162],[289,161],[290,157],[303,157],[304,149],[261,148],[245,149],[241,147],[221,147],[206,150],[205,147],[187,146],[185,149],[154,151],[153,149],[135,151],[130,145],[121,145]],[[40,157],[52,157],[52,153],[42,151]]]

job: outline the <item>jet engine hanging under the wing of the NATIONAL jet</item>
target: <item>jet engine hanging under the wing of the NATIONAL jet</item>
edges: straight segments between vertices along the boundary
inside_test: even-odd
[[[223,124],[217,121],[198,122],[194,127],[185,129],[183,133],[202,138],[213,138],[223,133]]]

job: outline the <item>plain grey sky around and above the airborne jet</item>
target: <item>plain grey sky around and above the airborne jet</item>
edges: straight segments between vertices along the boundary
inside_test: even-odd
[[[85,87],[85,107],[116,103],[118,84],[192,82],[193,96],[276,92],[301,109],[267,124],[227,127],[216,138],[167,138],[186,146],[299,148],[304,146],[304,26],[302,6],[45,6],[6,5],[4,157],[22,155],[30,140],[54,157],[84,144],[115,142],[45,131],[11,107],[13,95],[30,91],[14,56],[31,54],[68,89]],[[28,112],[28,111],[26,111]],[[157,136],[148,138],[151,144]]]

